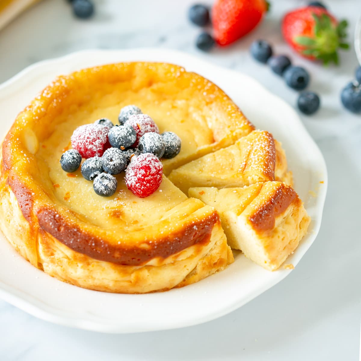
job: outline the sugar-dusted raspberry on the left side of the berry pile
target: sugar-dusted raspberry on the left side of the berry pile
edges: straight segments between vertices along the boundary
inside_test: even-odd
[[[71,136],[71,146],[83,158],[101,157],[104,151],[110,148],[108,142],[109,128],[99,124],[81,125],[74,130]]]

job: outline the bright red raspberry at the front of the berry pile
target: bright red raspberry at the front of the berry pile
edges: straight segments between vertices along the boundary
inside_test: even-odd
[[[148,197],[162,182],[162,162],[151,153],[133,157],[125,171],[125,184],[138,197]]]

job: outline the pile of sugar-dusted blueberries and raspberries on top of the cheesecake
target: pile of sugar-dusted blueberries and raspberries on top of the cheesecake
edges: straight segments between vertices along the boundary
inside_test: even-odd
[[[156,123],[135,105],[121,109],[119,125],[98,119],[74,130],[73,149],[60,158],[61,168],[81,173],[93,181],[95,193],[112,196],[117,189],[116,174],[125,170],[125,184],[138,197],[154,193],[162,182],[160,158],[173,158],[181,150],[181,139],[173,132],[159,134]]]

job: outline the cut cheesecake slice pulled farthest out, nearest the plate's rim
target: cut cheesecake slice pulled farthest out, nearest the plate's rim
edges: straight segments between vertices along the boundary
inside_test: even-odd
[[[190,188],[189,195],[216,208],[231,248],[272,271],[296,249],[310,223],[297,193],[282,182]]]

